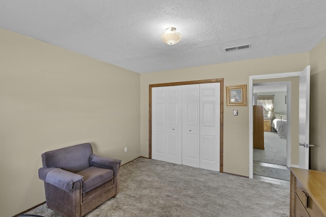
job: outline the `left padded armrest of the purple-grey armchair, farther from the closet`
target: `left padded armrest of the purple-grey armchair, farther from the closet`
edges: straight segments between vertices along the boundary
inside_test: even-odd
[[[73,184],[83,181],[84,176],[60,168],[40,168],[39,178],[67,192],[73,191]]]

